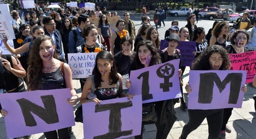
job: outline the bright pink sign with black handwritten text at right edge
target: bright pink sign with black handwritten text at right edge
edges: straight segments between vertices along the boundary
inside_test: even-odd
[[[231,70],[246,70],[246,83],[252,82],[256,74],[256,51],[229,54]]]

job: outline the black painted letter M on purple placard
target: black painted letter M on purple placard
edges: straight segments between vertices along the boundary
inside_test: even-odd
[[[229,73],[221,81],[219,76],[213,72],[200,74],[198,103],[207,104],[212,102],[214,82],[220,93],[226,88],[227,83],[230,82],[228,104],[237,103],[242,82],[242,73]]]

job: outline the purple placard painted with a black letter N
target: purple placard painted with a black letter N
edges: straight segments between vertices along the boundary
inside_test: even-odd
[[[53,95],[59,122],[47,124],[45,121],[31,112],[37,125],[26,126],[23,114],[21,112],[21,107],[16,100],[25,98],[44,108],[41,96],[45,95]],[[0,94],[1,105],[3,109],[8,112],[5,117],[7,137],[15,138],[29,134],[53,131],[75,125],[73,107],[66,102],[66,99],[70,97],[71,94],[69,88]]]

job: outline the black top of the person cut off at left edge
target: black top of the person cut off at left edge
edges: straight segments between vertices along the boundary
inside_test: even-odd
[[[11,55],[2,55],[2,58],[8,60],[13,68],[12,56]],[[0,57],[0,58],[1,58]],[[1,63],[2,64],[2,63]],[[3,67],[5,72],[4,74],[0,73],[0,89],[5,89],[6,91],[15,89],[21,84],[22,79],[16,77],[11,71]]]

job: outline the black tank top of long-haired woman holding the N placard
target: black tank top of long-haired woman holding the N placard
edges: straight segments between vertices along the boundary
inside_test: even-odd
[[[61,67],[52,73],[43,73],[41,90],[66,88]]]

